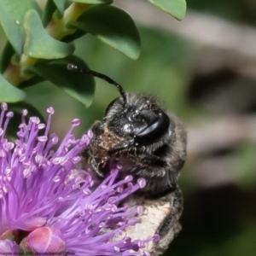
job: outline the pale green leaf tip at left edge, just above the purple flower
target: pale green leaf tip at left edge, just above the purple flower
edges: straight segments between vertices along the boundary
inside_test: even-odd
[[[9,84],[0,74],[0,102],[19,102],[26,98],[26,93]]]

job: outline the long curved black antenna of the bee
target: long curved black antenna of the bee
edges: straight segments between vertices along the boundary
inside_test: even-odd
[[[125,95],[125,90],[123,89],[123,87],[120,84],[115,82],[113,79],[110,79],[108,76],[106,76],[102,73],[98,73],[96,71],[90,70],[89,68],[78,67],[78,66],[75,66],[73,64],[67,64],[67,69],[72,70],[72,71],[76,71],[76,72],[80,72],[80,73],[87,73],[87,74],[89,74],[91,76],[94,76],[96,78],[105,80],[109,84],[113,84],[117,88],[117,90],[119,91],[119,94],[123,97],[124,103],[126,104],[127,99],[126,99],[126,95]]]

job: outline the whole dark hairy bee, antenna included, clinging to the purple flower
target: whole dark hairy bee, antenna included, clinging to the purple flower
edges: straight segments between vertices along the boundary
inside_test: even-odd
[[[67,68],[104,79],[119,90],[120,96],[108,105],[102,121],[91,127],[94,137],[82,153],[84,169],[102,178],[113,166],[121,166],[120,178],[131,174],[135,180],[139,177],[146,180],[146,186],[139,192],[142,195],[139,203],[148,207],[147,214],[154,208],[164,212],[157,227],[152,228],[161,237],[154,247],[154,255],[159,255],[180,230],[178,218],[183,198],[177,177],[186,160],[186,130],[175,114],[164,109],[154,96],[125,93],[113,79],[90,69],[73,64]],[[155,215],[155,210],[152,211]],[[144,228],[148,229],[148,224],[143,226],[142,222],[141,230]]]

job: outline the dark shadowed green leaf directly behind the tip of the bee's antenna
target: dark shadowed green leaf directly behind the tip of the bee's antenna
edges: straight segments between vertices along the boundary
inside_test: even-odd
[[[73,96],[85,107],[89,107],[95,92],[95,80],[84,73],[67,70],[67,64],[87,67],[84,61],[71,55],[58,61],[38,61],[34,67],[27,67],[26,72],[38,74]]]

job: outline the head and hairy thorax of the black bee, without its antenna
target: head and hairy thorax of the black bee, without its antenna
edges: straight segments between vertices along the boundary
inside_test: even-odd
[[[84,150],[86,167],[103,177],[109,166],[120,165],[124,175],[146,179],[148,198],[166,195],[177,188],[186,156],[183,125],[153,97],[125,96],[126,102],[115,99],[103,122],[91,127],[95,137]]]

